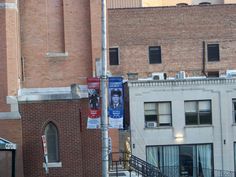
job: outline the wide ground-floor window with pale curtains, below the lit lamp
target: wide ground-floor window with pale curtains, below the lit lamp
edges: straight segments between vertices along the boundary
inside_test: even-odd
[[[146,146],[147,162],[166,176],[212,177],[212,144]]]

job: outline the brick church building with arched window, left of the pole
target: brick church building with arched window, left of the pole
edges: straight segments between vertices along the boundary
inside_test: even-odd
[[[85,86],[100,56],[100,4],[2,0],[0,13],[0,137],[17,145],[13,172],[4,172],[12,166],[0,150],[0,176],[46,176],[43,134],[50,176],[101,176],[101,134],[86,129]]]

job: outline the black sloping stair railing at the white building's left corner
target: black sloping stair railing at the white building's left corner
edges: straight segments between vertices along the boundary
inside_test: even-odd
[[[126,152],[111,153],[109,162],[110,171],[115,171],[117,176],[119,171],[128,170],[130,173],[135,171],[143,177],[167,177],[159,168]]]

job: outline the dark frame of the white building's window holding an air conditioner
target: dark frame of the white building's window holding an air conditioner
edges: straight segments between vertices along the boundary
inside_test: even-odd
[[[159,104],[169,104],[169,114],[161,114],[159,113]],[[156,114],[154,115],[147,115],[146,112],[150,110],[145,110],[145,104],[155,104],[155,110]],[[170,122],[169,123],[160,123],[160,116],[170,116]],[[149,117],[149,118],[148,118]],[[147,119],[155,119],[155,120],[147,120]],[[156,127],[163,127],[163,126],[172,126],[172,105],[171,101],[163,101],[163,102],[144,102],[144,121],[145,121],[145,127],[148,128],[147,123],[148,122],[156,122]]]

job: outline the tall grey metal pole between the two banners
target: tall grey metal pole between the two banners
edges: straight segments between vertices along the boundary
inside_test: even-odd
[[[107,6],[102,0],[102,177],[108,177],[108,117],[107,117]]]

